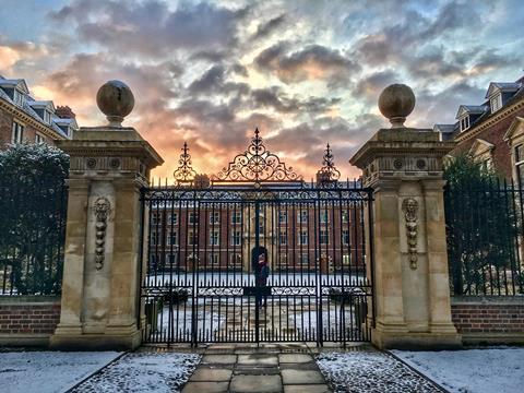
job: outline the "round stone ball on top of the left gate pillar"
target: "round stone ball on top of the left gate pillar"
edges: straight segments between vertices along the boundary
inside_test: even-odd
[[[98,88],[96,104],[110,127],[122,127],[123,118],[133,110],[134,96],[126,83],[108,81]]]

